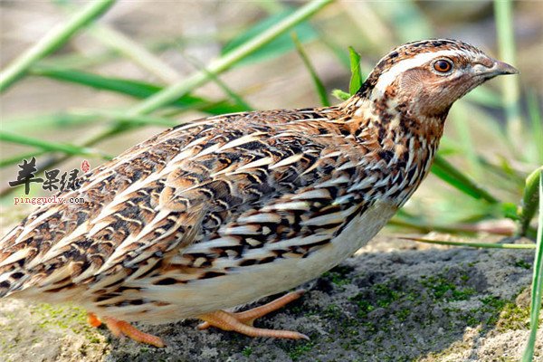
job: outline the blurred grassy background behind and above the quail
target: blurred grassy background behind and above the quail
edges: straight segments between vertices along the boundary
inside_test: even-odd
[[[349,46],[365,77],[396,45],[432,37],[472,43],[515,65],[520,76],[491,81],[454,105],[443,163],[391,226],[514,232],[504,218],[519,219],[525,179],[543,163],[543,2],[109,3],[0,2],[1,66],[25,64],[0,87],[2,233],[35,207],[14,206],[24,188],[8,186],[24,158],[62,174],[83,160],[97,167],[177,123],[338,103],[331,93],[348,92]],[[25,50],[77,16],[87,18],[64,37],[49,36],[43,56],[24,63]],[[285,22],[294,26],[280,31]],[[251,48],[265,36],[271,43]],[[33,184],[30,195],[52,193]]]

